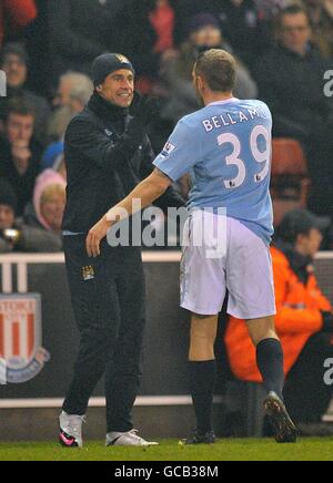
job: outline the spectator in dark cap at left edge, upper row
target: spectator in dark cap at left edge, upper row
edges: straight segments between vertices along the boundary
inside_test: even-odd
[[[40,95],[27,89],[28,56],[19,43],[8,43],[1,52],[0,69],[7,74],[7,97],[0,97],[0,119],[3,116],[8,102],[17,97],[28,102],[34,109],[34,135],[41,144],[46,143],[46,131],[51,114],[48,102]]]

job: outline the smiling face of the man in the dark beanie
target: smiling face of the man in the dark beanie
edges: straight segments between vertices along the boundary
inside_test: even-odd
[[[119,107],[129,107],[134,96],[134,74],[127,69],[115,71],[108,75],[98,92],[105,101]]]

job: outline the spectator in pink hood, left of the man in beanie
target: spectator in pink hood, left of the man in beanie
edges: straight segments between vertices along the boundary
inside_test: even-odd
[[[52,234],[61,246],[61,224],[65,205],[65,181],[53,169],[46,169],[36,181],[33,201],[24,212],[24,223]]]

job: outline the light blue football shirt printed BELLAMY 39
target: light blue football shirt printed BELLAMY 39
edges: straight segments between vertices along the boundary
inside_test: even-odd
[[[189,208],[225,208],[270,244],[272,115],[261,101],[230,99],[183,117],[154,165],[176,182],[189,173]]]

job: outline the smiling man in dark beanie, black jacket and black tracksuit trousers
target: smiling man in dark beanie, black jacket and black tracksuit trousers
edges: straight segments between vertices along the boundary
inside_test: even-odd
[[[82,445],[89,398],[105,373],[107,445],[147,445],[131,419],[145,319],[141,250],[105,243],[92,261],[85,237],[110,206],[153,171],[147,129],[158,109],[154,100],[141,100],[134,116],[129,115],[134,70],[123,55],[103,54],[92,70],[94,93],[65,134],[64,251],[81,345],[60,417],[60,442]],[[182,206],[183,199],[170,188],[157,205],[165,210]]]

